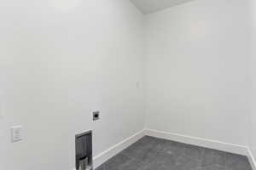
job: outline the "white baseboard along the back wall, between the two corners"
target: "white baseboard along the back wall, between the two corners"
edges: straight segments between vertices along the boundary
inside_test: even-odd
[[[220,142],[218,140],[203,139],[198,137],[193,137],[189,135],[183,135],[178,133],[169,133],[153,129],[145,129],[145,134],[148,136],[153,136],[160,139],[169,139],[177,142],[182,142],[184,144],[195,144],[201,147],[206,147],[214,150],[223,150],[235,154],[240,154],[247,156],[247,146],[240,144],[230,144]]]

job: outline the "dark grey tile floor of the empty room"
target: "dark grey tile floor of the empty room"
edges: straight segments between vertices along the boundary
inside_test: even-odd
[[[143,137],[96,170],[252,170],[246,156]]]

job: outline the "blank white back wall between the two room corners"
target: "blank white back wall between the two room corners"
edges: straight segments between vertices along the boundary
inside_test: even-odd
[[[146,127],[247,144],[246,11],[195,0],[146,16]]]

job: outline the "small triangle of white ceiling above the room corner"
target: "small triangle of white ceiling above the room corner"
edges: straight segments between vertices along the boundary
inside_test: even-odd
[[[139,8],[143,14],[154,13],[158,10],[170,8],[180,3],[186,3],[191,0],[130,0]]]

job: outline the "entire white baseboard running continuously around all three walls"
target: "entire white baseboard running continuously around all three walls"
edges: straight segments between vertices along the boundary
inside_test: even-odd
[[[119,142],[119,144],[113,145],[108,150],[103,151],[101,154],[93,157],[94,168],[99,167],[105,161],[108,161],[111,157],[117,155],[120,151],[125,150],[128,146],[135,143],[138,139],[143,138],[143,136],[148,135],[155,138],[160,139],[169,139],[177,142],[181,142],[184,144],[195,144],[201,147],[206,147],[214,150],[223,150],[234,154],[239,154],[243,156],[247,156],[250,161],[253,170],[256,170],[256,161],[253,157],[252,151],[249,147],[241,144],[230,144],[221,142],[218,140],[212,139],[203,139],[198,137],[193,137],[189,135],[183,135],[178,133],[168,133],[153,129],[144,129],[133,134],[131,137]]]

